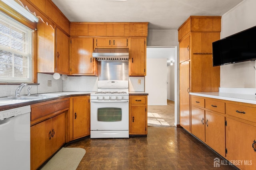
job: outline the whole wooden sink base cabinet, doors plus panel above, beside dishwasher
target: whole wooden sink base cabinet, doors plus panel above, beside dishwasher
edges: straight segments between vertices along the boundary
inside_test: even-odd
[[[68,109],[68,98],[31,105],[31,170],[37,169],[65,143]]]

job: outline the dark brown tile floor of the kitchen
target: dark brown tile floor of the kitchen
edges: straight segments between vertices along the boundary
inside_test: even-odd
[[[77,170],[233,170],[214,168],[216,153],[182,128],[149,127],[147,137],[82,139],[67,147],[86,150]]]

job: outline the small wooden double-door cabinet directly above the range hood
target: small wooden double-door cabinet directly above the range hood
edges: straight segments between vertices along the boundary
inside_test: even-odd
[[[96,38],[95,47],[128,47],[128,38]]]

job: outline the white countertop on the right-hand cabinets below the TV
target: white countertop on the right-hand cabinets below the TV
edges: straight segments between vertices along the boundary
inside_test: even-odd
[[[242,102],[249,104],[256,104],[256,95],[255,94],[237,94],[237,93],[220,93],[220,92],[196,92],[190,93],[194,96],[202,96],[206,98],[214,98],[221,100],[229,100],[234,102]]]

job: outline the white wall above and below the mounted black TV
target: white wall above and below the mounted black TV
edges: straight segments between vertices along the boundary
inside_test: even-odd
[[[256,1],[244,0],[222,16],[220,37],[224,38],[256,25]],[[255,62],[220,66],[220,87],[255,88]]]

